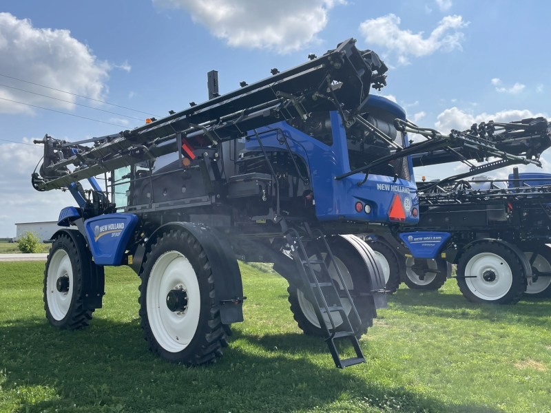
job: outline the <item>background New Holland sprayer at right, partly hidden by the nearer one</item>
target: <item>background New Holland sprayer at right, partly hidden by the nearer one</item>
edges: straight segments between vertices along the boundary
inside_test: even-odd
[[[551,147],[545,118],[473,125],[463,133],[535,160]],[[546,245],[551,242],[550,174],[514,168],[507,180],[480,176],[516,161],[488,160],[472,148],[411,158],[414,166],[460,159],[469,171],[417,182],[419,223],[389,226],[386,234],[367,237],[391,274],[388,289],[402,279],[410,288],[437,290],[451,277],[451,264],[457,264],[455,278],[469,301],[516,304],[524,293],[551,297],[551,248]],[[468,159],[486,163],[473,165]]]

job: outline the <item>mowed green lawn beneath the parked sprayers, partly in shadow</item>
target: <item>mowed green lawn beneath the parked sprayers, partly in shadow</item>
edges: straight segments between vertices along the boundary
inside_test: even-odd
[[[62,331],[44,317],[43,263],[0,263],[0,411],[551,412],[551,301],[403,286],[362,338],[367,363],[338,370],[293,321],[287,282],[241,268],[245,322],[218,363],[185,368],[147,350],[128,268],[107,268],[90,327]]]

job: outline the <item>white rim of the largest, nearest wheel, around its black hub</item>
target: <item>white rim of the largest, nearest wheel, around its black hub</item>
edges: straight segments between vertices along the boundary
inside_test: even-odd
[[[167,295],[174,289],[187,293],[184,312],[167,307]],[[167,251],[155,262],[146,293],[147,318],[159,345],[168,352],[184,350],[194,338],[200,315],[197,275],[189,260],[178,251]]]

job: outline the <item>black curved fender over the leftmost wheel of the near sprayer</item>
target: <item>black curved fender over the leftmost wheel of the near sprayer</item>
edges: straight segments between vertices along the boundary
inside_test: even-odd
[[[92,252],[88,247],[86,238],[76,229],[60,229],[52,235],[55,240],[60,235],[67,235],[76,245],[79,254],[79,261],[83,266],[83,309],[94,310],[101,308],[102,298],[105,295],[105,272],[103,266],[96,265]]]

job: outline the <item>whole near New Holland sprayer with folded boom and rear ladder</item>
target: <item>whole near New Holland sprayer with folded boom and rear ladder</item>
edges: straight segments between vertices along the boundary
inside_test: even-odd
[[[149,348],[176,363],[215,361],[243,320],[237,260],[271,262],[289,282],[298,326],[326,340],[337,367],[361,363],[358,338],[386,306],[386,280],[354,234],[417,223],[408,156],[471,145],[537,163],[469,136],[409,145],[395,126],[403,109],[370,95],[386,85],[375,52],[349,39],[309,59],[223,95],[210,72],[207,102],[136,129],[37,141],[44,158],[33,187],[68,189],[78,204],[61,211],[52,237],[50,324],[87,326],[101,308],[104,266],[127,265],[141,277]],[[337,339],[355,357],[341,359]]]

